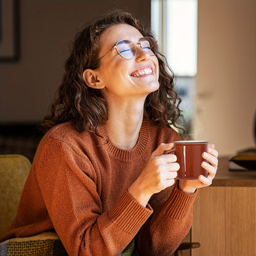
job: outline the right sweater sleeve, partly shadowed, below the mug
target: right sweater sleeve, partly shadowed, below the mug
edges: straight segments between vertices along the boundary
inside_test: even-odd
[[[164,204],[158,207],[138,234],[140,255],[171,255],[190,231],[194,194],[178,190],[178,180]]]

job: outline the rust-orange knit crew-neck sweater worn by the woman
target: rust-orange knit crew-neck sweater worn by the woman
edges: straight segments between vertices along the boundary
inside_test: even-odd
[[[101,127],[99,134],[108,138]],[[143,121],[132,150],[121,150],[67,122],[42,138],[4,241],[55,230],[68,255],[119,255],[136,236],[140,255],[170,255],[190,230],[194,194],[177,185],[138,204],[127,188],[159,143],[180,140],[169,127]]]

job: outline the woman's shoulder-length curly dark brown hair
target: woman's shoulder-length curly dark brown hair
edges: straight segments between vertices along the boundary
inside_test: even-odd
[[[70,121],[76,130],[95,132],[108,119],[108,105],[101,90],[87,86],[82,73],[100,66],[98,62],[100,35],[110,26],[128,24],[137,28],[143,36],[154,38],[150,26],[143,25],[133,14],[116,10],[87,25],[76,34],[71,54],[65,63],[65,74],[58,87],[50,114],[44,117],[41,127],[46,132],[51,127]],[[159,89],[146,97],[144,118],[165,126],[179,127],[178,118],[182,116],[179,105],[181,99],[174,90],[174,73],[161,53],[156,55],[159,62]]]

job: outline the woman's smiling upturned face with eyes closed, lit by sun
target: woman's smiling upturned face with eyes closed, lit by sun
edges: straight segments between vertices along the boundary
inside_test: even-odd
[[[158,90],[158,58],[150,56],[137,44],[140,38],[143,35],[127,24],[113,25],[100,36],[99,56],[107,54],[100,60],[96,72],[107,100],[129,97],[145,99],[146,95]],[[137,54],[134,58],[127,60],[116,49],[110,50],[120,40],[130,40],[136,44]]]

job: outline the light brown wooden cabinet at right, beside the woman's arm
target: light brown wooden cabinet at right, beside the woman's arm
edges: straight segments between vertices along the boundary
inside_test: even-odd
[[[192,256],[256,255],[256,171],[230,171],[220,158],[212,185],[198,190]]]

